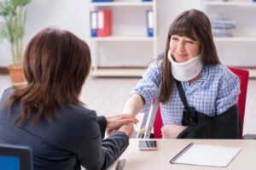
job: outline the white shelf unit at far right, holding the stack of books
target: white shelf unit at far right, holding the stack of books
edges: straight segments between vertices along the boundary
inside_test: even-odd
[[[210,20],[221,17],[235,20],[235,29],[230,31],[232,37],[213,37],[219,59],[224,65],[248,68],[250,77],[255,77],[256,59],[253,56],[256,54],[256,2],[201,0],[201,4]]]

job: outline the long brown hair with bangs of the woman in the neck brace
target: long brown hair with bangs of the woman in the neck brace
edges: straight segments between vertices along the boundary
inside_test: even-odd
[[[172,94],[174,77],[172,76],[172,65],[167,58],[169,43],[172,35],[189,37],[195,40],[198,38],[201,45],[201,60],[203,65],[215,65],[220,63],[217,50],[213,42],[210,20],[203,12],[191,9],[179,14],[172,22],[168,31],[166,51],[163,58],[163,68],[160,86],[160,102],[167,102]]]

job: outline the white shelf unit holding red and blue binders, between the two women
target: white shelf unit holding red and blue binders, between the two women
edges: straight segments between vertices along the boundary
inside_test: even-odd
[[[157,56],[157,0],[89,3],[90,11],[112,11],[112,35],[90,37],[93,77],[141,77]],[[147,12],[152,10],[154,34],[148,36]]]

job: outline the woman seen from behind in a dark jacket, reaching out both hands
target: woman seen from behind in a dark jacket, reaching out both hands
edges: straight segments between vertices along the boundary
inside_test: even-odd
[[[28,145],[39,169],[106,169],[126,149],[133,116],[96,116],[79,100],[90,49],[69,31],[46,28],[24,54],[25,88],[4,91],[0,141]],[[104,139],[106,127],[117,129]]]

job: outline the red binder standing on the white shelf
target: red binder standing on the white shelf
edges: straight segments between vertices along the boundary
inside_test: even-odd
[[[98,10],[97,12],[97,36],[106,37],[112,34],[111,10]]]

